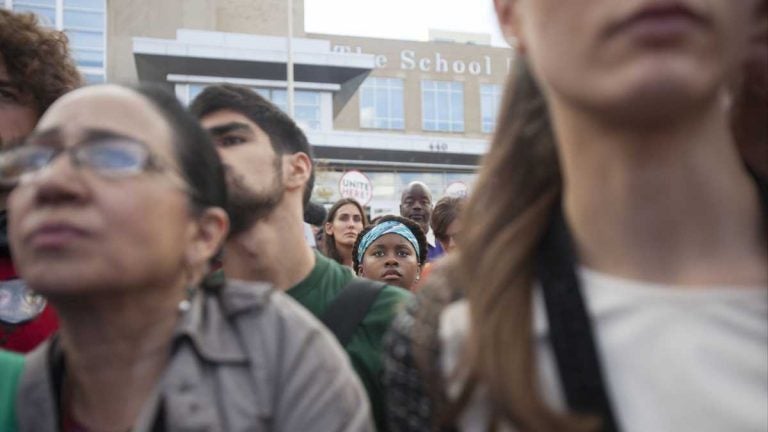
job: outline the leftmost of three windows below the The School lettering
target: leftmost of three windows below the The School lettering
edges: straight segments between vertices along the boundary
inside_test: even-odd
[[[360,87],[360,127],[403,129],[403,80],[371,77]]]

